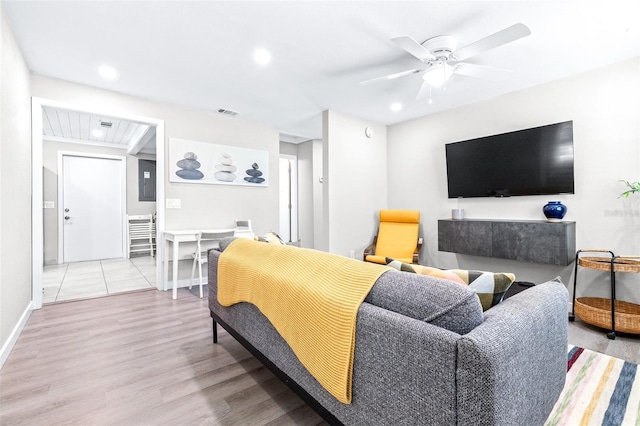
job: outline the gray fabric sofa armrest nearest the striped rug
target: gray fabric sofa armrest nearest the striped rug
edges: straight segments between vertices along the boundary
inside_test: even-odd
[[[458,424],[538,425],[567,371],[569,295],[559,279],[486,312],[458,346]]]

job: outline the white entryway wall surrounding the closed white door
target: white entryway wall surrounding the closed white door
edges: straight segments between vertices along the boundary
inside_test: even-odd
[[[44,263],[58,263],[58,151],[125,156],[127,162],[127,214],[153,214],[156,203],[138,201],[138,158],[155,160],[155,155],[127,155],[126,150],[98,145],[81,145],[45,141],[42,149],[43,201],[53,201],[55,208],[44,209]]]

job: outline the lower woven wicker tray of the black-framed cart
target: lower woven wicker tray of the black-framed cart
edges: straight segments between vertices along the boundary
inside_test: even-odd
[[[640,334],[640,305],[615,301],[616,331]],[[579,297],[575,314],[587,324],[611,330],[611,299],[601,297]]]

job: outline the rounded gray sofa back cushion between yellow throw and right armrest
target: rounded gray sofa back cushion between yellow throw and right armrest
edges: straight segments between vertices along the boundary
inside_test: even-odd
[[[365,302],[458,334],[467,334],[484,321],[482,305],[468,287],[408,272],[382,274]]]

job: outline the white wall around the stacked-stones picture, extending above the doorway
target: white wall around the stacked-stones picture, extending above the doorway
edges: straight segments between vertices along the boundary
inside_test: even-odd
[[[116,111],[165,122],[165,152],[171,138],[261,149],[269,152],[268,187],[170,183],[164,176],[165,198],[180,199],[180,209],[164,209],[165,229],[230,228],[236,218],[252,220],[256,233],[278,227],[279,133],[274,127],[178,105],[154,102],[43,76],[31,79],[32,95],[71,104],[78,109]],[[165,170],[168,158],[164,159]],[[160,205],[158,200],[158,209]],[[181,245],[182,247],[182,245]],[[185,245],[181,255],[190,247]],[[181,262],[179,279],[188,278],[190,265]]]

